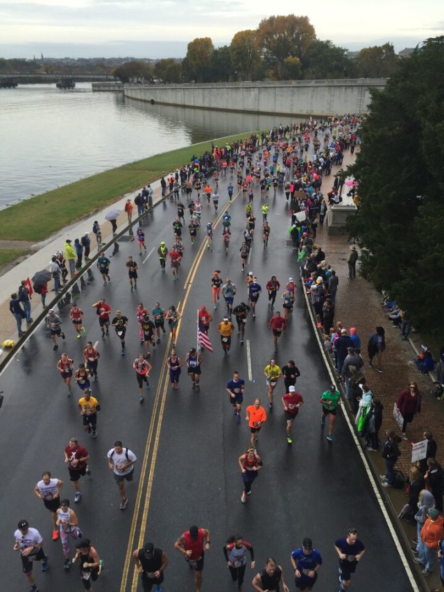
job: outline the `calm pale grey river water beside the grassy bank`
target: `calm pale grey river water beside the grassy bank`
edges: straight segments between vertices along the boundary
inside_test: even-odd
[[[89,83],[0,89],[0,208],[126,162],[279,123],[140,103],[93,93]]]

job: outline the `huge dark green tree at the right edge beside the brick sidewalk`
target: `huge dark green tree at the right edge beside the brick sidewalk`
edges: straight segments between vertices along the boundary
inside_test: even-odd
[[[364,246],[363,272],[424,331],[443,334],[444,37],[403,60],[373,92],[351,173],[360,205],[348,228]]]

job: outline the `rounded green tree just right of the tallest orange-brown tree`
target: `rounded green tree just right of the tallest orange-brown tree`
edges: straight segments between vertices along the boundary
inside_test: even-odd
[[[302,58],[304,78],[352,78],[355,63],[347,57],[347,50],[334,45],[330,40],[315,39]]]

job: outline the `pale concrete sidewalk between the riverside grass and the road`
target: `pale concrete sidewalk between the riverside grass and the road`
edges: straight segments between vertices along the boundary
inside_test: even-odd
[[[155,181],[155,183],[151,183],[151,187],[153,189],[153,205],[159,202],[162,199],[162,188],[160,187],[160,180]],[[142,189],[142,187],[140,188]],[[136,189],[136,192],[139,192],[140,189]],[[134,201],[134,192],[124,195],[117,201],[116,203],[109,205],[108,208],[105,208],[103,212],[96,212],[91,217],[84,219],[82,221],[73,224],[72,226],[68,226],[63,230],[60,230],[56,235],[53,237],[46,239],[44,242],[35,244],[32,246],[33,253],[26,260],[22,261],[21,263],[12,267],[9,271],[1,276],[1,285],[0,285],[0,319],[1,319],[1,327],[0,327],[0,346],[5,339],[13,339],[17,342],[18,335],[17,335],[17,325],[15,323],[15,319],[10,314],[9,310],[9,301],[10,295],[13,292],[17,292],[20,282],[22,280],[26,280],[26,278],[32,278],[36,271],[40,271],[41,269],[45,269],[48,267],[49,262],[51,261],[51,256],[56,253],[56,251],[64,251],[64,244],[66,239],[71,239],[74,244],[74,239],[80,238],[85,232],[89,232],[91,238],[91,251],[90,257],[94,257],[97,253],[97,246],[96,246],[96,237],[92,233],[92,224],[94,220],[99,221],[102,231],[102,240],[103,242],[107,243],[112,239],[112,228],[111,223],[105,220],[105,214],[108,210],[112,210],[117,208],[117,210],[121,211],[119,218],[117,219],[118,229],[117,232],[121,232],[125,226],[128,225],[128,219],[126,213],[124,211],[124,205],[126,200],[130,198],[131,201]],[[135,210],[133,211],[133,221],[137,219],[137,206],[135,205]],[[30,245],[31,246],[31,245]],[[70,276],[68,275],[68,280]],[[46,307],[50,307],[51,302],[54,298],[56,298],[56,294],[54,294],[51,289],[53,288],[53,282],[49,282],[48,284],[48,294],[46,294]],[[80,288],[80,286],[79,286]],[[40,301],[39,294],[33,294],[31,299],[31,306],[32,306],[32,315],[35,319],[39,314],[43,312],[42,303]],[[22,329],[26,329],[26,321],[22,323]],[[4,359],[7,355],[8,350],[1,350],[0,348],[0,362]]]

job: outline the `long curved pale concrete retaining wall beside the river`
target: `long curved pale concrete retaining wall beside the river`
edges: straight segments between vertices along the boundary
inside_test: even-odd
[[[386,78],[259,83],[125,85],[137,101],[267,115],[336,115],[364,113],[370,88],[383,89]]]

